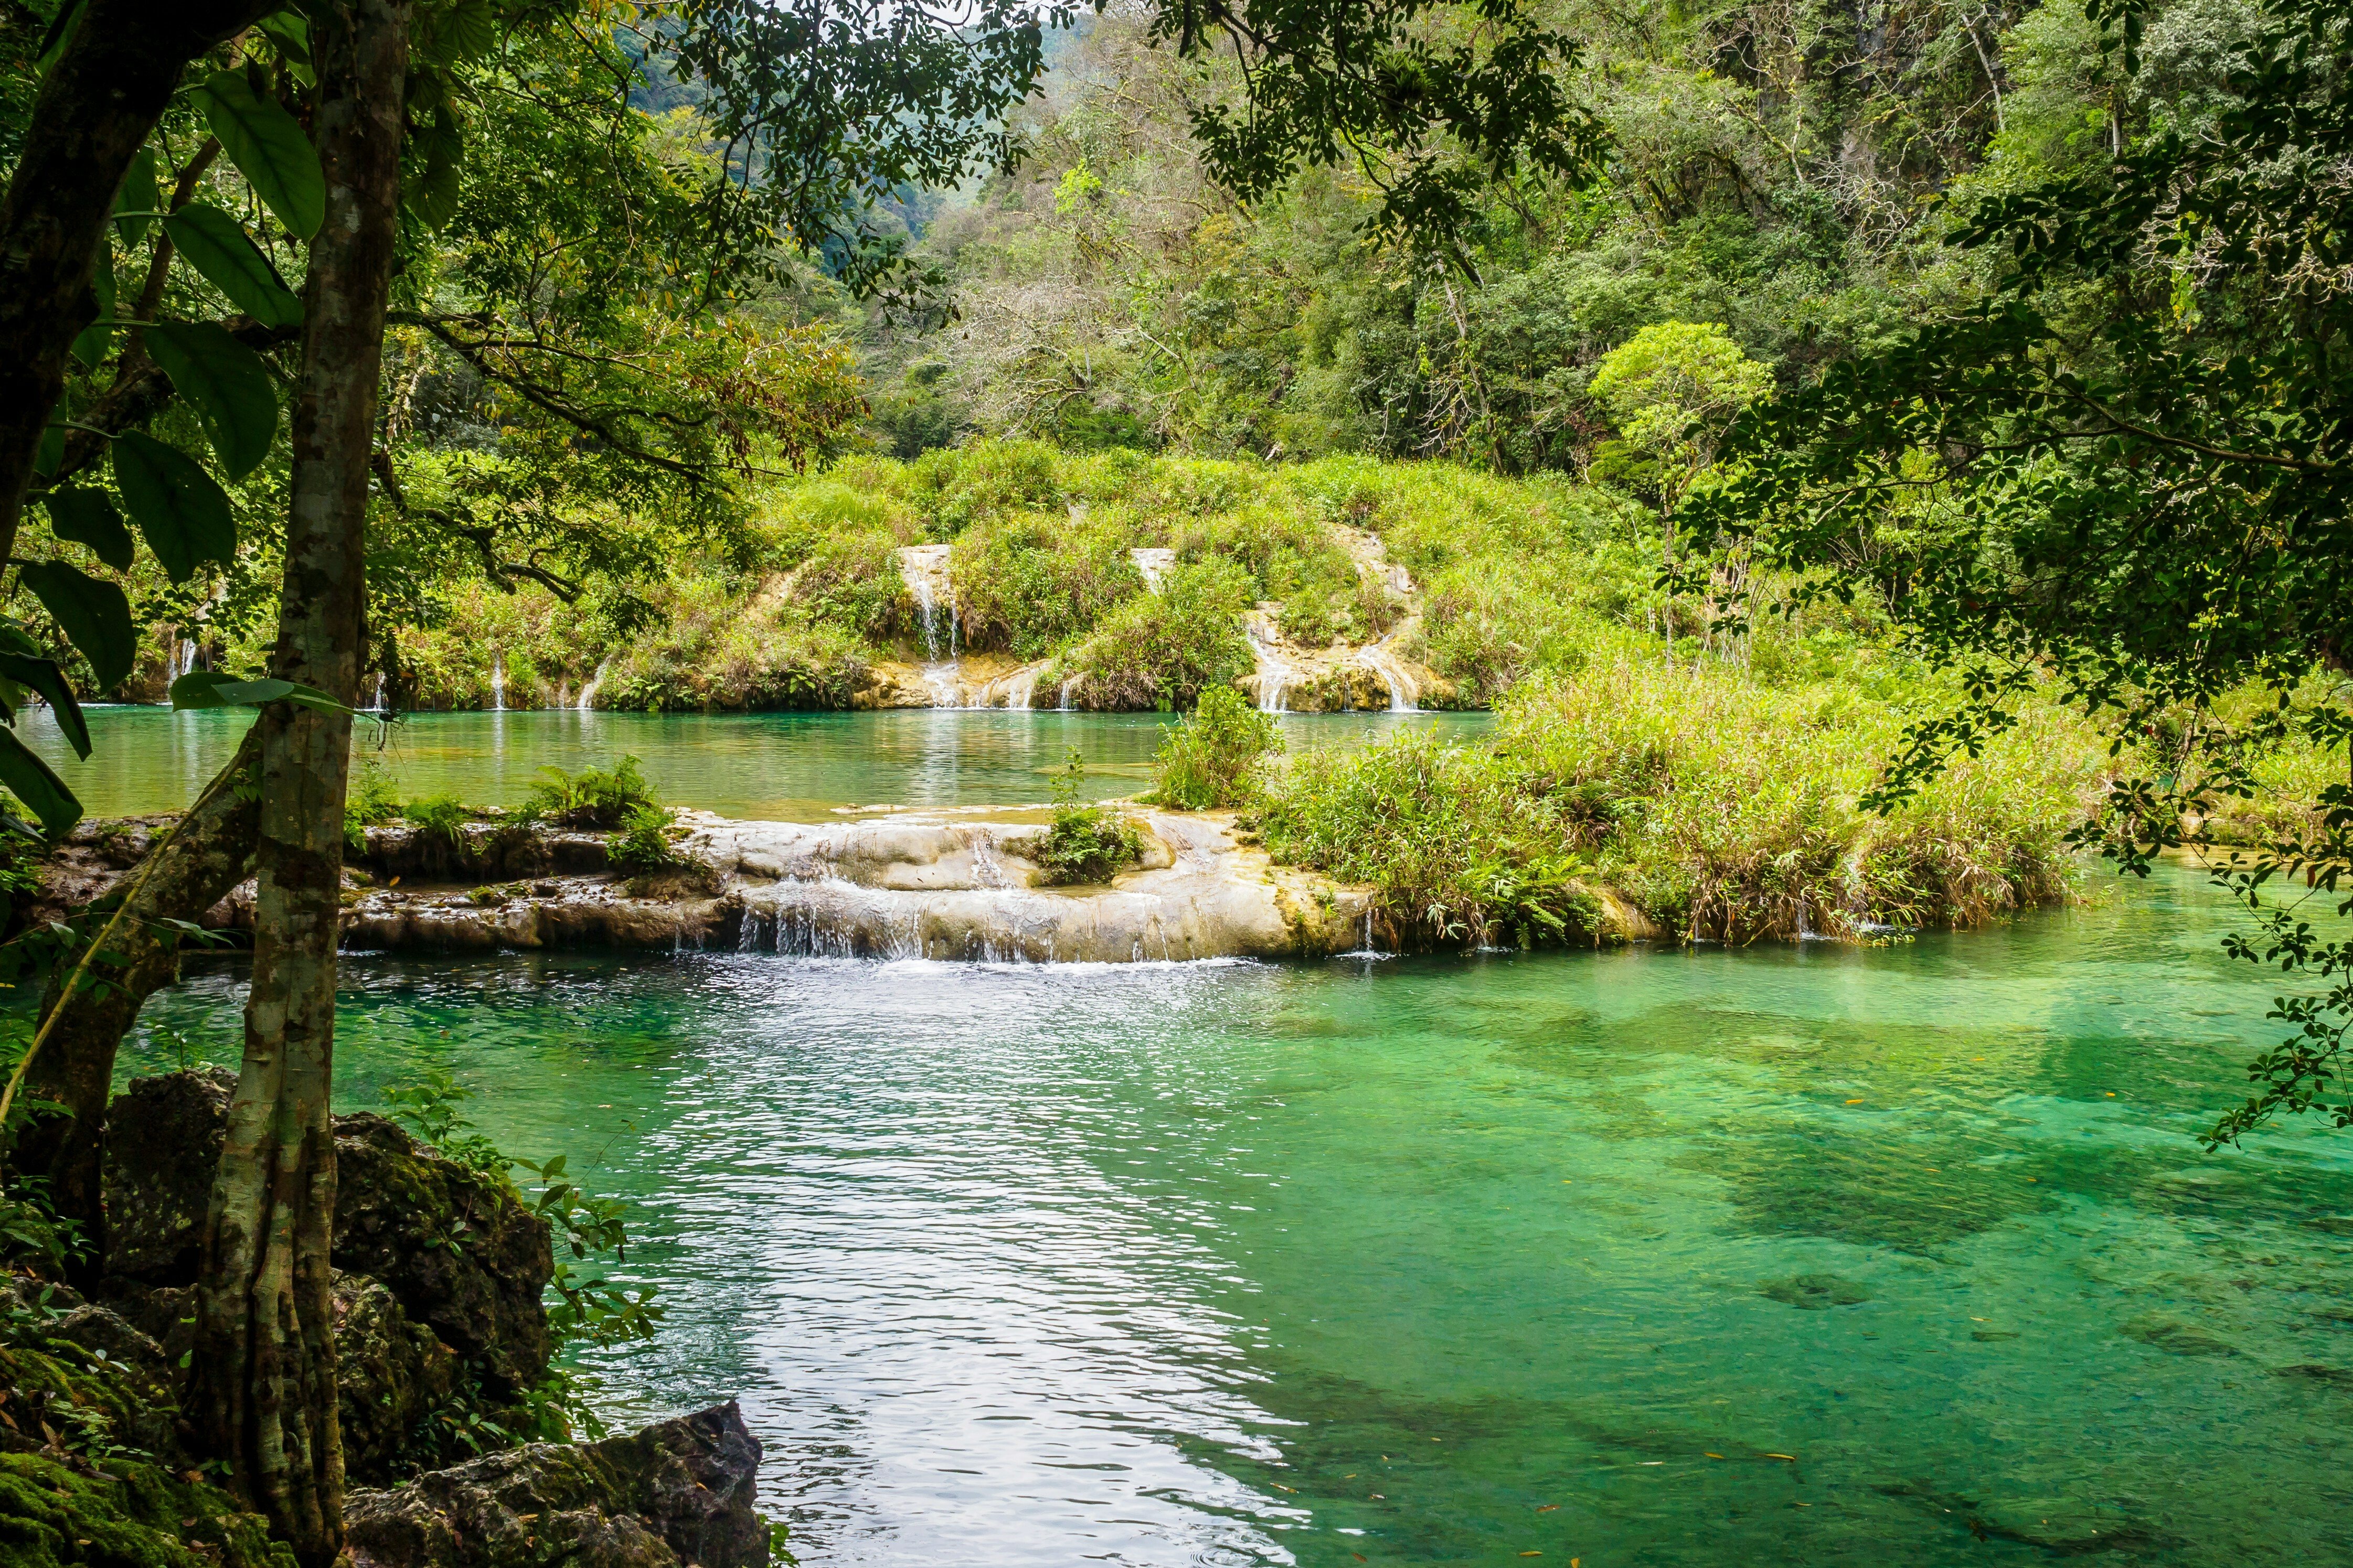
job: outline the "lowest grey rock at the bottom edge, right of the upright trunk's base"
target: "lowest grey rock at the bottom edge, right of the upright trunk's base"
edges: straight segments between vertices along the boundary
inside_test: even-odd
[[[529,1443],[355,1490],[353,1568],[767,1568],[760,1439],[734,1401],[602,1443]]]

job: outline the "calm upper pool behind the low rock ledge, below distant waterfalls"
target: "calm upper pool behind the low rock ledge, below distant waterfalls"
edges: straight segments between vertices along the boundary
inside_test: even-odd
[[[355,745],[407,799],[456,795],[513,806],[544,764],[609,766],[635,755],[661,797],[720,816],[816,820],[847,804],[969,806],[1052,799],[1052,769],[1085,757],[1082,795],[1134,795],[1160,748],[1158,715],[1129,712],[424,712],[362,724]],[[94,816],[176,811],[195,799],[252,724],[247,712],[92,708],[92,755],[66,745],[47,710],[26,741]],[[1358,745],[1400,724],[1468,731],[1485,715],[1287,715],[1294,748]]]

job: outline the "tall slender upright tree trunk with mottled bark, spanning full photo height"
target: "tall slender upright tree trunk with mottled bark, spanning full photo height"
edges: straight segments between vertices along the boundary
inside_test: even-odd
[[[294,475],[271,675],[353,701],[367,473],[400,200],[409,0],[313,9],[327,221],[311,244]],[[334,950],[351,715],[261,715],[259,896],[245,1070],[205,1220],[195,1420],[306,1568],[344,1542],[334,1418]]]

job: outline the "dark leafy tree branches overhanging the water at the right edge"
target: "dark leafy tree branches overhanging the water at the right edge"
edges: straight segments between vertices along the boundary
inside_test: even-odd
[[[2129,73],[2141,9],[2089,14]],[[2141,875],[2217,849],[2266,748],[2353,745],[2353,24],[2266,0],[2224,89],[2207,122],[1979,202],[1958,240],[1993,263],[1986,299],[1760,407],[1744,477],[1694,508],[1812,592],[1882,595],[1962,672],[1969,701],[1911,731],[1882,799],[2049,684],[2146,759],[2092,835]],[[1889,548],[1897,515],[1927,527]],[[2353,914],[2353,785],[2217,875],[2257,917],[2231,952],[2320,990],[2278,999],[2294,1034],[2209,1138],[2353,1124],[2353,945],[2304,914]]]

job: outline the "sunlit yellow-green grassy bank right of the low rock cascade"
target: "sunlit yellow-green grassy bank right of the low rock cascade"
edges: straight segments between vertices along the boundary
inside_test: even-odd
[[[1487,745],[1400,736],[1261,776],[1278,860],[1377,889],[1402,943],[1591,940],[1602,893],[1748,943],[1974,926],[2064,898],[2108,771],[2052,705],[1889,816],[1857,809],[1913,703],[1859,679],[1668,668],[1619,639],[1504,698]],[[1932,684],[1904,689],[1929,696]]]

